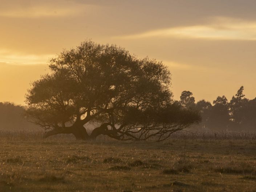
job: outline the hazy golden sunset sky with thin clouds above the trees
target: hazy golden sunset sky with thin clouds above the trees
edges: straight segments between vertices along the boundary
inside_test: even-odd
[[[24,104],[49,58],[86,38],[163,61],[196,101],[256,97],[255,0],[1,0],[0,102]]]

